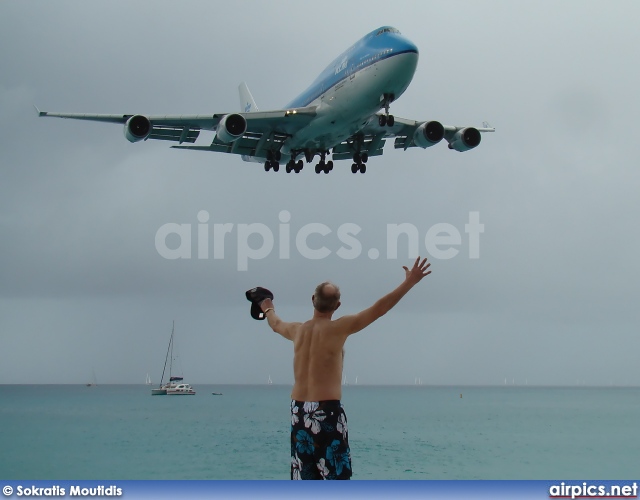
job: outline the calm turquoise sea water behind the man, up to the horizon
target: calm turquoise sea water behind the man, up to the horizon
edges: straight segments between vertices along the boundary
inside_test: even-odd
[[[290,387],[194,387],[0,385],[0,478],[289,478]],[[346,386],[343,403],[353,479],[640,469],[640,388]]]

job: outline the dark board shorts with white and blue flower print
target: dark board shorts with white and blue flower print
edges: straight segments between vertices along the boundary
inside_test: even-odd
[[[350,478],[347,416],[340,401],[291,401],[291,479]]]

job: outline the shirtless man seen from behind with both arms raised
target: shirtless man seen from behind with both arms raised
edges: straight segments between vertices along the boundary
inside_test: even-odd
[[[340,289],[318,285],[313,318],[286,323],[271,299],[261,302],[271,329],[293,342],[294,385],[291,392],[291,479],[350,479],[351,455],[342,397],[343,347],[347,337],[389,312],[422,278],[431,274],[427,259],[418,257],[405,280],[373,306],[350,316],[332,319],[340,307]]]

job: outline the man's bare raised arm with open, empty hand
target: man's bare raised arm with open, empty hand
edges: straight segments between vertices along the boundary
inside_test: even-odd
[[[343,328],[343,331],[345,331],[347,335],[351,335],[366,328],[381,316],[384,316],[393,306],[400,302],[400,299],[417,285],[422,278],[431,274],[431,271],[428,271],[430,266],[431,264],[427,263],[426,258],[420,262],[420,257],[416,259],[411,269],[407,268],[407,266],[402,266],[405,271],[405,279],[400,286],[379,299],[368,309],[351,316],[343,316],[337,320],[341,323],[341,329]]]

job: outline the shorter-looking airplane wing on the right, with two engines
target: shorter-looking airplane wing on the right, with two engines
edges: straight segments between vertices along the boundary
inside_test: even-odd
[[[392,126],[381,126],[380,115],[373,115],[360,132],[352,135],[333,149],[333,159],[353,158],[356,152],[379,156],[383,153],[385,142],[394,140],[395,149],[433,146],[445,139],[449,149],[468,151],[480,144],[481,133],[495,132],[495,128],[484,123],[482,127],[459,127],[442,125],[437,121],[408,120],[394,118]]]

